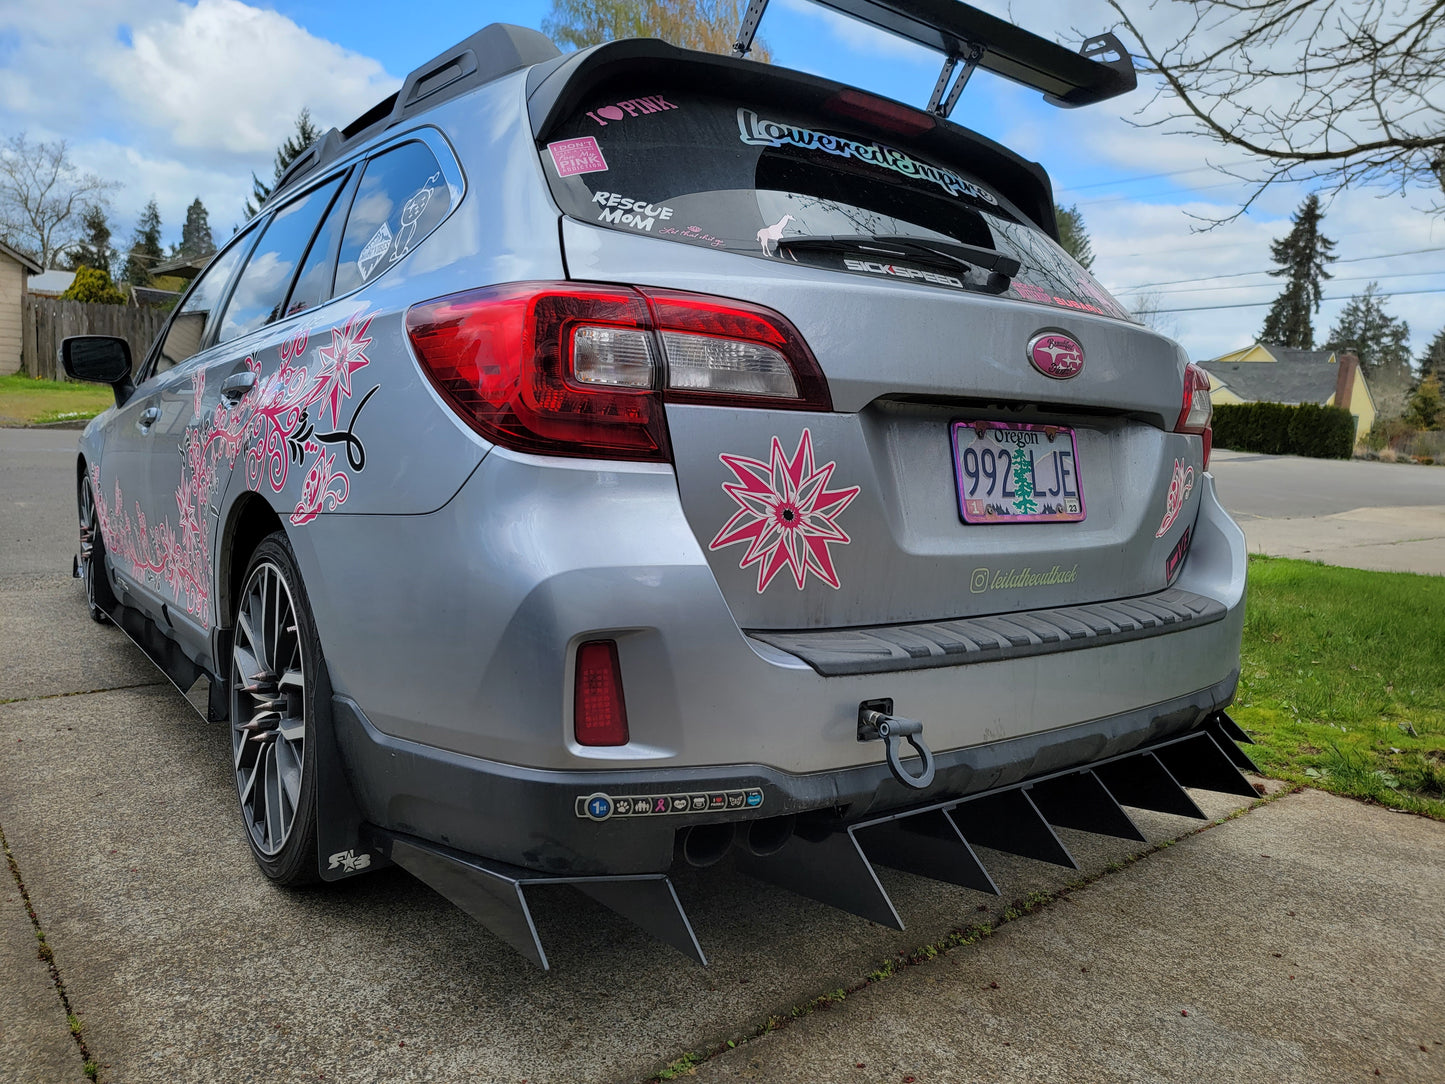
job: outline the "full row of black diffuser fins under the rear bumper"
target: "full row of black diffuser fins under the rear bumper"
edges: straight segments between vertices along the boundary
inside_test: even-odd
[[[871,922],[903,929],[876,866],[1000,895],[974,847],[1078,869],[1055,828],[1144,841],[1124,805],[1204,820],[1185,786],[1256,795],[1231,753],[1243,734],[1222,711],[1208,726],[1123,756],[1036,776],[964,799],[854,822],[801,820],[780,850],[741,851],[738,867]],[[1222,741],[1220,740],[1222,737]],[[1224,746],[1224,747],[1221,747]],[[659,941],[707,965],[666,873],[558,876],[464,854],[410,835],[373,831],[384,857],[429,885],[522,955],[546,968],[527,892],[571,885]]]

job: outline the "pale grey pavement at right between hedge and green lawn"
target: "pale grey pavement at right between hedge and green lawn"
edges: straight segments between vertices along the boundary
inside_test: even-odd
[[[1215,451],[1250,552],[1445,575],[1445,467]]]

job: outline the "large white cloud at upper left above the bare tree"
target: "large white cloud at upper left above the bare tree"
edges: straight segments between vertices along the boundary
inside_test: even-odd
[[[228,237],[251,171],[270,178],[303,106],[318,126],[342,126],[399,84],[240,0],[0,4],[0,134],[66,139],[77,165],[120,181],[117,244],[152,197],[168,243],[197,197]]]

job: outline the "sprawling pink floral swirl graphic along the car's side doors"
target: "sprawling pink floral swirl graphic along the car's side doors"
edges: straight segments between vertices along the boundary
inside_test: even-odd
[[[374,314],[373,314],[374,315]],[[134,516],[126,509],[120,481],[114,496],[105,499],[100,467],[91,467],[91,487],[95,494],[95,519],[111,558],[142,582],[165,590],[185,606],[186,613],[201,621],[211,620],[211,554],[215,538],[212,502],[220,496],[218,484],[230,477],[237,457],[246,452],[246,483],[259,490],[264,478],[272,491],[280,493],[292,461],[301,464],[306,455],[315,460],[302,481],[301,499],[290,513],[296,526],[309,523],[321,512],[334,512],[351,490],[344,470],[335,468],[335,454],[327,454],[324,442],[345,442],[348,461],[360,468],[364,452],[355,452],[360,441],[345,432],[315,434],[308,418],[309,409],[321,403],[316,413],[328,412],[340,428],[341,403],[351,397],[351,374],[363,369],[371,344],[367,328],[371,315],[361,312],[340,328],[331,330],[331,344],[316,350],[321,361],[315,374],[305,366],[295,366],[306,353],[309,330],[302,330],[279,347],[280,366],[263,376],[263,366],[254,357],[246,366],[256,373],[256,387],[237,403],[221,402],[210,415],[202,415],[205,371],[195,374],[191,389],[194,418],[181,439],[181,484],[176,487],[176,522],[169,517],[159,526],[146,523],[146,513],[133,502]],[[374,392],[376,389],[373,389]],[[368,396],[370,397],[370,393]],[[363,400],[364,405],[366,400]],[[355,423],[360,406],[351,415]]]

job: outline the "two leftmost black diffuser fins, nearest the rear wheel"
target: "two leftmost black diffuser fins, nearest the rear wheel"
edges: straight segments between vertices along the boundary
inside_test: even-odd
[[[532,921],[527,889],[543,885],[571,885],[707,967],[708,960],[666,873],[556,876],[462,854],[396,833],[373,830],[373,841],[374,850],[449,899],[542,970],[548,970],[549,964]]]

